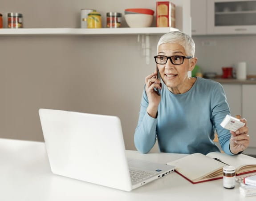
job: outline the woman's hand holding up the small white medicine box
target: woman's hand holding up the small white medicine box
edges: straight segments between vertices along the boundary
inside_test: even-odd
[[[249,145],[250,137],[248,135],[247,121],[245,119],[240,119],[245,125],[236,132],[230,131],[232,134],[229,142],[230,151],[233,154],[237,154],[241,151],[244,151]]]

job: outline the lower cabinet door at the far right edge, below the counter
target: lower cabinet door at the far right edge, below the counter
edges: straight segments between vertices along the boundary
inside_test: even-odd
[[[250,145],[249,147],[256,148],[256,85],[243,84],[243,117],[247,120]]]

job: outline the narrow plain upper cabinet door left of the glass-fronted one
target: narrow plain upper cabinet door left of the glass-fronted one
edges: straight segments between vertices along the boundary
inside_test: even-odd
[[[191,1],[191,32],[194,35],[206,35],[206,0]]]

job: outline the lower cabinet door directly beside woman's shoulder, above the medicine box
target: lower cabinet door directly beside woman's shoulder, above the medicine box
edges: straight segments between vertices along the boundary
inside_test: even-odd
[[[242,85],[222,84],[228,99],[231,115],[242,115]]]

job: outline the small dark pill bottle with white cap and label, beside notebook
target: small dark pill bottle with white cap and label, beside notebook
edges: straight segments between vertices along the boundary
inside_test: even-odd
[[[234,189],[236,184],[236,170],[233,166],[223,167],[223,187]]]

